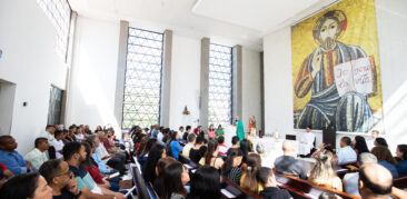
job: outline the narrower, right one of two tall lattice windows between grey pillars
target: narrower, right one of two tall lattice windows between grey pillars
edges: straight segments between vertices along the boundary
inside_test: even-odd
[[[231,122],[231,48],[210,43],[209,125]]]

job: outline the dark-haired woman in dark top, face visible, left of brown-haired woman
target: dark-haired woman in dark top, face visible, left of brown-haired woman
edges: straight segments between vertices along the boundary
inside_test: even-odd
[[[229,156],[226,158],[226,161],[221,168],[221,175],[239,185],[241,177],[241,169],[239,168],[241,163],[241,159],[244,158],[244,153],[240,149],[230,149]]]

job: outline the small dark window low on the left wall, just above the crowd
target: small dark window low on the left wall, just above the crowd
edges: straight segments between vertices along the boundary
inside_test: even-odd
[[[61,89],[51,86],[48,108],[48,125],[61,123],[62,94],[63,91]]]

